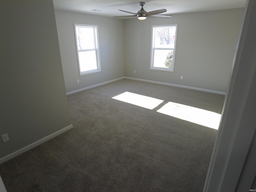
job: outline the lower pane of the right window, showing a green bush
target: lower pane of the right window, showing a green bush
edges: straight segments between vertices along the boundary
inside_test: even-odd
[[[173,50],[154,50],[154,67],[172,68]]]

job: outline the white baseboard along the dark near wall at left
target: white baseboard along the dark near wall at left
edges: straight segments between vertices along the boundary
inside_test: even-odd
[[[38,145],[40,145],[40,144],[42,144],[42,143],[44,143],[44,142],[46,142],[46,141],[48,141],[48,140],[50,140],[52,138],[54,138],[54,137],[64,133],[64,132],[66,132],[67,130],[70,130],[71,128],[73,128],[72,124],[67,126],[67,127],[65,127],[65,128],[63,128],[63,129],[61,129],[61,130],[56,131],[53,134],[48,135],[48,136],[46,136],[46,137],[44,137],[44,138],[42,138],[42,139],[40,139],[40,140],[38,140],[38,141],[36,141],[36,142],[34,142],[32,144],[29,144],[28,146],[26,146],[24,148],[21,148],[21,149],[15,151],[15,152],[13,152],[13,153],[3,157],[3,158],[0,158],[0,164],[3,163],[3,162],[6,162],[7,160],[10,160],[11,158],[14,158],[14,157],[16,157],[16,156],[18,156],[18,155],[20,155],[20,154],[22,154],[22,153],[32,149],[32,148],[38,146]]]

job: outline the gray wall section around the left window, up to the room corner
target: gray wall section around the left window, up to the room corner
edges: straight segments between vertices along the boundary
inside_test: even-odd
[[[55,16],[67,92],[124,76],[123,20],[61,10]],[[98,25],[101,72],[79,76],[74,23]]]

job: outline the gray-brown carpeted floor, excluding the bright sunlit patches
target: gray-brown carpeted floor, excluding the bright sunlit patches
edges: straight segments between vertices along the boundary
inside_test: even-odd
[[[128,79],[69,95],[74,128],[1,164],[6,190],[202,192],[217,130],[112,98],[124,92],[219,114],[224,103]]]

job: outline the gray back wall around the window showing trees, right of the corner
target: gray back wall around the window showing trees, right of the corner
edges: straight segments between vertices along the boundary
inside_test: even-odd
[[[238,8],[124,20],[124,75],[226,92],[243,13]],[[151,26],[162,24],[178,24],[174,72],[149,69]]]

